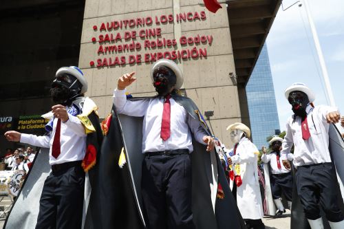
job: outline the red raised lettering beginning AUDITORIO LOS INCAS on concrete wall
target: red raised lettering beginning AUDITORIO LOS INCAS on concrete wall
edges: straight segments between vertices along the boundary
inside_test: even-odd
[[[169,14],[101,22],[99,26],[93,26],[93,30],[99,33],[92,38],[94,45],[98,45],[98,58],[96,63],[90,61],[89,65],[102,68],[153,62],[160,58],[175,60],[206,57],[204,45],[213,43],[212,35],[182,35],[179,39],[168,39],[164,37],[166,34],[162,34],[162,26],[204,20],[206,13],[201,11],[175,14],[175,17]],[[178,43],[181,49],[178,49]]]

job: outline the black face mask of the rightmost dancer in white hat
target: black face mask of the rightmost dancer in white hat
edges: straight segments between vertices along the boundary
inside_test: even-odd
[[[302,91],[292,91],[288,96],[288,101],[292,105],[292,111],[296,116],[300,116],[301,118],[307,116],[305,109],[310,103],[310,100],[305,93]]]

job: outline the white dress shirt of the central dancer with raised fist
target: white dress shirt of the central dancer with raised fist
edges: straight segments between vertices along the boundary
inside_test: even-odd
[[[191,131],[197,142],[203,142],[206,131],[197,120],[186,112],[173,98],[171,102],[171,135],[166,141],[160,138],[162,111],[164,109],[164,98],[146,98],[142,100],[127,100],[124,90],[115,89],[114,105],[118,113],[127,116],[144,117],[142,127],[142,153],[166,151],[173,149],[189,149],[193,151]],[[189,128],[190,127],[190,128]]]

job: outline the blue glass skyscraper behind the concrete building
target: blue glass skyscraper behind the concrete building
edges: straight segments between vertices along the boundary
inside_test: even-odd
[[[246,85],[252,142],[261,149],[266,138],[279,134],[279,116],[266,44]]]

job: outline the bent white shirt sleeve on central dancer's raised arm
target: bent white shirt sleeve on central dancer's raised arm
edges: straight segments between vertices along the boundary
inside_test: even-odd
[[[124,90],[114,90],[114,105],[118,113],[125,114],[127,116],[142,117],[146,114],[149,99],[129,101],[125,95]]]

